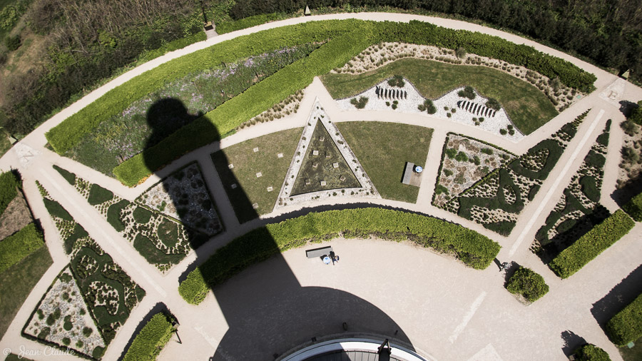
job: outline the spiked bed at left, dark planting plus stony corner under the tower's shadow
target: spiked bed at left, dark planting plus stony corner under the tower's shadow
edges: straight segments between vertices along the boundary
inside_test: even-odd
[[[188,166],[188,169],[191,170],[189,172],[190,177],[185,178],[186,168],[183,168],[171,174],[168,178],[161,180],[161,187],[163,183],[168,182],[172,178],[178,180],[178,183],[174,181],[170,182],[173,187],[182,184],[180,180],[183,178],[189,181],[189,187],[178,190],[182,192],[178,201],[175,198],[173,202],[168,202],[168,200],[163,197],[163,192],[158,188],[159,185],[153,186],[156,191],[148,195],[146,199],[148,199],[151,204],[157,204],[156,201],[160,202],[160,204],[158,204],[159,208],[163,208],[163,200],[165,200],[163,212],[165,208],[167,208],[168,211],[173,210],[174,214],[180,216],[184,211],[186,215],[185,219],[194,220],[196,226],[200,226],[200,228],[203,229],[220,231],[222,228],[218,218],[206,218],[210,211],[214,212],[212,209],[213,203],[209,200],[210,209],[206,210],[203,208],[205,201],[201,198],[205,196],[204,194],[209,194],[200,174],[196,176],[193,173],[194,170],[198,171],[198,167],[190,167],[191,166]],[[60,168],[56,169],[61,171]],[[200,171],[198,172],[200,173]],[[182,177],[178,176],[180,173],[183,173]],[[73,173],[70,174],[73,175]],[[173,265],[179,263],[192,249],[198,248],[209,238],[207,233],[188,228],[172,216],[141,205],[138,201],[130,202],[113,194],[110,190],[89,183],[78,176],[73,176],[73,181],[69,183],[78,190],[78,193],[81,193],[123,238],[130,241],[138,253],[141,253],[149,263],[155,265],[161,272],[166,272]],[[198,182],[197,180],[201,181]],[[191,187],[192,182],[195,183],[195,188]],[[193,204],[190,203],[189,199],[191,191],[195,192],[192,194],[194,197],[193,200],[196,201],[195,203],[192,202]],[[198,197],[195,194],[198,194]],[[158,195],[158,197],[154,198],[153,195]],[[174,207],[171,206],[174,202],[179,203],[178,207],[175,205]],[[170,205],[169,208],[168,205]],[[190,213],[192,214],[190,215]],[[210,224],[209,227],[208,223]]]

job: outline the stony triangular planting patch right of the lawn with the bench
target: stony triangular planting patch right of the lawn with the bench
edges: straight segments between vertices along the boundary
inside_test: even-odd
[[[448,133],[432,204],[443,208],[449,200],[513,158],[515,155],[504,149]]]

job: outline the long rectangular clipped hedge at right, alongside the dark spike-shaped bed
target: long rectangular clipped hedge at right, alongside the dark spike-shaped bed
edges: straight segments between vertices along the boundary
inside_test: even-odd
[[[616,210],[602,223],[576,240],[551,261],[551,269],[561,278],[569,278],[603,250],[626,235],[636,223],[623,210]]]

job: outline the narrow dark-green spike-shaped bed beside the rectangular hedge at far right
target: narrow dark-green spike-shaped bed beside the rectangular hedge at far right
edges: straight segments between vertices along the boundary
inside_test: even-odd
[[[610,214],[599,203],[610,127],[609,120],[571,178],[571,183],[564,189],[564,195],[546,218],[546,223],[535,235],[535,244],[531,249],[545,263]]]

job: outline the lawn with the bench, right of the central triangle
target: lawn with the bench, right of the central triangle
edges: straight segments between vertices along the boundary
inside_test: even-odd
[[[351,121],[336,126],[383,198],[417,202],[419,188],[401,180],[406,162],[425,166],[431,128],[377,121]]]

